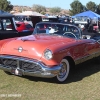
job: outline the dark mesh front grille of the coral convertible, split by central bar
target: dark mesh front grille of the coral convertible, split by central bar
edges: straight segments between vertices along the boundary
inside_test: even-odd
[[[23,69],[24,71],[41,71],[41,66],[34,62],[33,60],[26,60],[20,58],[4,58],[0,57],[0,64],[7,68],[17,68]]]

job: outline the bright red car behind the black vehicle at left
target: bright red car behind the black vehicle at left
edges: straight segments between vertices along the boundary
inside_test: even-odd
[[[17,22],[16,26],[17,26],[18,32],[33,31],[34,30],[34,28],[29,23]]]

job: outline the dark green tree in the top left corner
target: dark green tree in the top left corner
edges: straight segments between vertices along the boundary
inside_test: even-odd
[[[0,10],[10,12],[13,9],[13,5],[11,5],[10,1],[0,0]]]

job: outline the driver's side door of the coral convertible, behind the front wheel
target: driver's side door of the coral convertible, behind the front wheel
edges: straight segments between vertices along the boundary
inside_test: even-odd
[[[73,47],[73,57],[77,63],[84,62],[100,55],[100,44],[93,39],[81,39]]]

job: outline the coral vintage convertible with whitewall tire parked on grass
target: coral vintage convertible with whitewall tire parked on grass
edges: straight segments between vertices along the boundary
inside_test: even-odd
[[[99,38],[74,25],[39,22],[32,35],[0,41],[0,69],[63,83],[75,65],[100,56]]]

